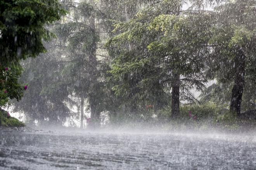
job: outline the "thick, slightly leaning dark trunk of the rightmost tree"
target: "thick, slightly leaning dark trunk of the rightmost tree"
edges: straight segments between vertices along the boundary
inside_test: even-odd
[[[244,76],[245,76],[245,58],[243,51],[240,49],[235,58],[235,81],[231,93],[230,113],[240,117],[242,95],[244,91]]]

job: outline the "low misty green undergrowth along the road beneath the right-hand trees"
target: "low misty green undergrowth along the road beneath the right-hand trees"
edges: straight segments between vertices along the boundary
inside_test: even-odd
[[[256,124],[255,120],[238,119],[236,115],[230,115],[226,106],[216,105],[214,102],[182,105],[178,119],[171,121],[168,120],[170,109],[170,106],[158,110],[141,109],[140,114],[133,114],[123,108],[123,112],[109,115],[109,121],[115,127],[162,127],[167,131],[173,129],[241,131],[253,129]]]

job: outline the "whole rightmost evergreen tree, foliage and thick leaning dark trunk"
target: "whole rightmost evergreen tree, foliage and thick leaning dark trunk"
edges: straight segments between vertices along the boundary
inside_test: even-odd
[[[253,0],[236,0],[216,8],[216,24],[209,44],[208,77],[234,81],[230,112],[240,116],[244,86],[255,84],[255,5]],[[246,78],[247,77],[247,78]],[[245,80],[249,80],[248,83]]]

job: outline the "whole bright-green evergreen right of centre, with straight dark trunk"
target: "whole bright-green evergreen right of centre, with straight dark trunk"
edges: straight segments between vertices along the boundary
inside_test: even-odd
[[[116,94],[128,92],[128,98],[157,103],[171,90],[173,117],[179,115],[180,90],[182,99],[194,100],[189,89],[204,87],[202,70],[211,26],[207,12],[182,10],[182,6],[182,1],[149,5],[129,22],[116,24],[114,31],[121,34],[107,44],[115,54],[112,78],[120,80],[113,87]]]

